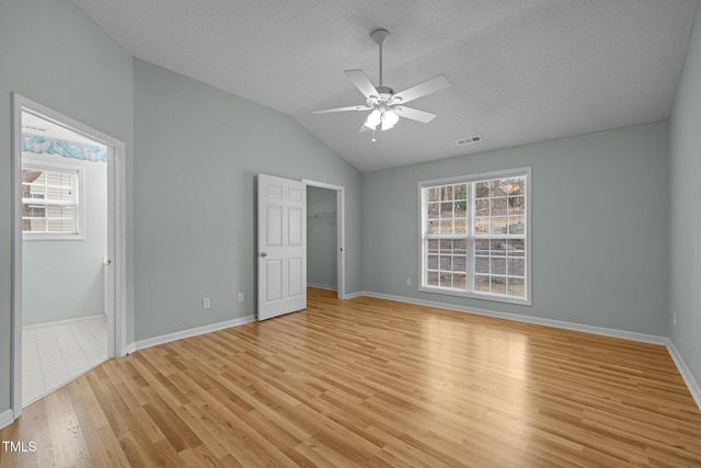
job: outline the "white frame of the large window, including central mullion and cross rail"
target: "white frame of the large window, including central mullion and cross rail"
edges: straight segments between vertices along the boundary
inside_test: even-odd
[[[467,217],[467,229],[466,229],[466,233],[464,235],[451,235],[451,236],[447,236],[444,239],[455,239],[456,237],[459,237],[460,239],[466,239],[466,283],[467,283],[467,290],[462,292],[462,290],[458,290],[458,289],[453,289],[453,288],[448,288],[448,287],[440,287],[440,286],[428,286],[427,284],[427,275],[428,275],[428,238],[427,238],[427,216],[425,216],[425,214],[427,213],[427,204],[428,201],[424,201],[423,197],[423,190],[424,189],[430,189],[430,187],[436,187],[436,186],[440,186],[440,185],[449,185],[449,184],[463,184],[463,183],[469,183],[469,184],[475,184],[478,182],[482,182],[482,181],[489,181],[489,180],[494,180],[494,179],[506,179],[506,178],[514,178],[514,176],[525,176],[526,178],[526,190],[525,190],[525,222],[526,222],[526,229],[524,232],[524,237],[525,237],[525,249],[526,249],[526,253],[525,253],[525,267],[524,267],[524,273],[525,273],[525,279],[524,279],[524,288],[525,288],[525,298],[519,298],[516,296],[507,296],[507,295],[501,295],[501,294],[494,294],[494,293],[482,293],[482,292],[476,292],[474,290],[473,284],[473,276],[474,276],[474,270],[475,270],[475,239],[485,239],[484,235],[482,236],[475,236],[474,232],[474,217],[475,217],[475,201],[473,198],[473,190],[468,190],[468,194],[466,195],[467,197],[467,203],[468,203],[468,207],[466,209],[466,217]],[[498,303],[509,303],[509,304],[517,304],[517,305],[521,305],[521,306],[531,306],[531,300],[532,300],[532,294],[531,294],[531,284],[532,284],[532,273],[531,273],[531,225],[532,225],[532,217],[531,217],[531,187],[532,185],[532,178],[531,178],[531,168],[530,167],[522,167],[522,168],[514,168],[514,169],[507,169],[507,170],[499,170],[499,171],[490,171],[490,172],[480,172],[480,173],[471,173],[471,174],[466,174],[466,175],[458,175],[458,176],[450,176],[450,178],[443,178],[443,179],[432,179],[432,180],[424,180],[424,181],[418,181],[417,184],[417,198],[418,198],[418,203],[417,203],[417,208],[418,208],[418,285],[417,288],[420,292],[423,293],[432,293],[432,294],[441,294],[441,295],[447,295],[447,296],[458,296],[458,297],[468,297],[468,298],[473,298],[473,299],[483,299],[483,300],[490,300],[490,301],[498,301]],[[432,237],[432,239],[435,239],[436,237]],[[508,235],[507,236],[499,236],[499,239],[508,239]]]

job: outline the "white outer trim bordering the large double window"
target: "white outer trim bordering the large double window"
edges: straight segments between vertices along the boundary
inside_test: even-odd
[[[502,179],[508,176],[516,175],[526,175],[526,298],[519,299],[517,297],[508,297],[502,295],[495,295],[490,293],[474,293],[474,292],[458,292],[449,288],[441,287],[428,287],[424,286],[425,284],[425,269],[424,269],[424,233],[426,232],[425,219],[423,217],[424,206],[422,199],[422,189],[432,187],[435,185],[448,185],[455,183],[467,183],[467,182],[476,182],[489,179]],[[531,306],[532,305],[532,269],[531,269],[531,225],[532,225],[532,212],[531,212],[531,187],[532,179],[531,179],[531,168],[515,168],[507,169],[502,171],[491,171],[491,172],[480,172],[473,174],[466,174],[459,176],[444,178],[444,179],[432,179],[426,181],[418,181],[417,189],[417,219],[418,219],[418,285],[417,289],[422,293],[432,293],[432,294],[441,294],[446,296],[457,296],[457,297],[469,297],[471,299],[482,299],[497,303],[508,303],[508,304],[517,304],[520,306]],[[470,198],[470,195],[468,195]],[[470,205],[473,203],[469,199]],[[472,209],[472,208],[471,208]],[[473,215],[470,215],[469,219],[471,219]],[[468,236],[466,238],[469,239]],[[473,237],[474,238],[474,237]],[[474,254],[468,255],[468,262],[472,262],[474,260]],[[471,281],[473,275],[474,265],[471,269],[468,269],[468,282]]]

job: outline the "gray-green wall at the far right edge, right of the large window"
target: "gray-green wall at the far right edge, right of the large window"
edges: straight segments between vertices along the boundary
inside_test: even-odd
[[[701,9],[669,119],[669,336],[701,384]],[[676,316],[676,324],[675,324]]]

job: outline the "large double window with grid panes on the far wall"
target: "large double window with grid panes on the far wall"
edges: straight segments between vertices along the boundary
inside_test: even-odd
[[[420,182],[422,290],[529,304],[529,174]]]

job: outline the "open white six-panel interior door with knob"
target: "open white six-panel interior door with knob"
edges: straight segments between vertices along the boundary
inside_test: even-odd
[[[265,320],[307,307],[307,186],[258,174],[258,310]]]

